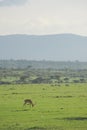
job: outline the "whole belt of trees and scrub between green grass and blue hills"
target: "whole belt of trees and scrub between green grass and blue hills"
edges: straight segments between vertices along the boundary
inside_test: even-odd
[[[0,84],[86,83],[87,62],[1,60]]]

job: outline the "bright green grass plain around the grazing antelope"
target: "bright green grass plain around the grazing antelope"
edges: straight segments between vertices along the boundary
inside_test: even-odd
[[[87,130],[87,84],[1,85],[0,130]]]

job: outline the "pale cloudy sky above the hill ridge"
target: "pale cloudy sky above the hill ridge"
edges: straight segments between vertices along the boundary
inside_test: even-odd
[[[0,0],[0,35],[87,36],[87,0]]]

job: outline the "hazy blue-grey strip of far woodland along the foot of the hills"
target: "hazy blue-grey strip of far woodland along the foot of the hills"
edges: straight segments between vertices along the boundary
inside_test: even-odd
[[[6,69],[87,69],[87,62],[79,61],[33,61],[33,60],[0,60],[0,68]]]

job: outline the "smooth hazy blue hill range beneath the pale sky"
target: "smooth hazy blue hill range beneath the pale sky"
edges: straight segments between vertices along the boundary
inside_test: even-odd
[[[0,59],[87,61],[87,37],[74,34],[0,36]]]

